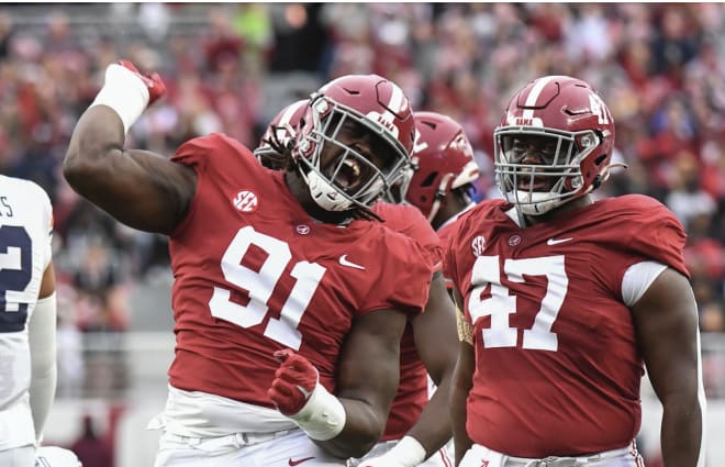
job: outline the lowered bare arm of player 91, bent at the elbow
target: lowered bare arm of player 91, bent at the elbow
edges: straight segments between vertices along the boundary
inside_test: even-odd
[[[336,396],[345,407],[345,427],[330,441],[315,441],[330,454],[361,457],[382,435],[398,390],[405,320],[405,314],[394,310],[355,319],[337,366]]]

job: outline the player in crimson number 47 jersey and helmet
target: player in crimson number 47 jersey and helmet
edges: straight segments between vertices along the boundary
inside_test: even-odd
[[[568,76],[524,86],[494,131],[505,199],[465,213],[445,257],[465,313],[451,398],[459,466],[642,466],[645,368],[663,407],[665,465],[703,465],[685,234],[651,198],[592,199],[613,145],[606,104]]]

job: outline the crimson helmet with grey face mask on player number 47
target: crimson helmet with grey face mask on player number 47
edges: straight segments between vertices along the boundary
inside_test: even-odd
[[[584,81],[544,77],[514,96],[493,144],[499,190],[521,214],[540,215],[609,177],[614,122]]]

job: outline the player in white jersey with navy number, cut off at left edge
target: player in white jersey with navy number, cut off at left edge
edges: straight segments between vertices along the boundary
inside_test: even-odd
[[[56,387],[53,210],[0,175],[0,465],[32,467]]]

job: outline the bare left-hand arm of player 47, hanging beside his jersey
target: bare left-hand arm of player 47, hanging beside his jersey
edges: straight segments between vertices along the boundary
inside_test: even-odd
[[[462,310],[462,298],[454,290],[454,299],[458,310]],[[459,313],[459,311],[457,311]],[[461,316],[458,316],[459,319]],[[466,452],[473,444],[466,431],[466,399],[473,387],[473,370],[476,369],[476,354],[473,345],[460,341],[458,345],[458,360],[454,369],[450,388],[450,419],[455,445],[455,465],[459,465]]]

